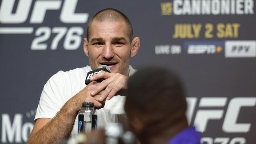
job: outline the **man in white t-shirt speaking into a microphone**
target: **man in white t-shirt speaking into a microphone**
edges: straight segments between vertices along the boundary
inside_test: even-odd
[[[76,116],[83,102],[93,102],[99,109],[98,124],[118,122],[124,114],[124,96],[128,76],[134,73],[130,57],[137,54],[138,37],[133,37],[130,20],[116,9],[104,9],[91,18],[84,38],[83,50],[90,66],[69,72],[59,71],[45,84],[41,94],[35,126],[28,144],[52,144],[77,132]],[[87,72],[108,65],[111,73],[100,72],[85,85]],[[104,78],[101,83],[96,79]],[[104,108],[103,108],[104,107]],[[122,119],[122,118],[121,118]],[[74,127],[74,128],[73,128]]]

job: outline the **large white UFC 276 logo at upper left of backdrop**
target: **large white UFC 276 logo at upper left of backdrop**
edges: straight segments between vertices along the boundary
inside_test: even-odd
[[[87,22],[88,13],[75,13],[78,0],[19,0],[15,9],[15,0],[2,0],[0,5],[0,34],[33,34],[31,50],[56,50],[64,39],[65,50],[76,50],[79,48],[83,27],[56,27],[42,26],[34,30],[34,26],[43,25],[46,12],[59,11],[59,20],[65,24],[84,24]],[[13,13],[13,9],[15,12]],[[30,13],[31,11],[31,13]],[[52,17],[55,18],[55,17]],[[29,22],[20,26],[24,22]],[[17,24],[17,26],[13,26]],[[11,27],[9,26],[11,25]],[[59,24],[58,24],[59,25]]]

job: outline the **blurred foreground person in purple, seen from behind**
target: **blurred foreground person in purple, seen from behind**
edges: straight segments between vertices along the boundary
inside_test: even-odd
[[[188,127],[182,83],[171,70],[138,70],[128,79],[124,108],[142,144],[200,144],[200,135]]]

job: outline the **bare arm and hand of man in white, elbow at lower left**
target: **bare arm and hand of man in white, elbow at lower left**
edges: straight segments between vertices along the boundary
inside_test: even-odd
[[[95,89],[97,85],[98,83],[93,81],[70,98],[54,118],[39,118],[35,122],[27,144],[55,144],[69,138],[76,115],[82,109],[83,102],[93,102],[95,107],[102,107],[102,103],[98,102],[100,95],[94,97],[90,95],[91,90]]]

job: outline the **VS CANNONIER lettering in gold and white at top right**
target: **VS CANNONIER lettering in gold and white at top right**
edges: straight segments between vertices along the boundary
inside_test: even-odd
[[[253,0],[173,0],[161,3],[162,15],[253,15]]]

